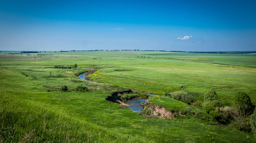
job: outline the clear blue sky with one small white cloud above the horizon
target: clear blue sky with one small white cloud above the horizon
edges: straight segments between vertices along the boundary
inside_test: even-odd
[[[0,3],[0,50],[256,50],[255,0]]]

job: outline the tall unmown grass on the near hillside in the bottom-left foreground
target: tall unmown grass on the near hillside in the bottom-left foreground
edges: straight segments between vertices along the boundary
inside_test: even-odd
[[[0,90],[1,143],[124,143],[146,139],[118,134],[87,121],[20,100]]]

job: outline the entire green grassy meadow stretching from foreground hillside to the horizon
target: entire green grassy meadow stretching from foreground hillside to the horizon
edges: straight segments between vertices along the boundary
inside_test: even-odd
[[[203,101],[203,94],[214,88],[225,105],[231,104],[238,91],[246,92],[255,105],[255,54],[38,54],[42,55],[0,54],[0,142],[256,142],[252,134],[226,125],[150,118],[106,101],[113,92],[128,89],[158,95],[184,90]],[[77,68],[54,69],[75,63]],[[95,82],[77,77],[88,68],[97,69],[89,75]],[[60,91],[63,85],[68,92]],[[76,91],[80,85],[89,91]],[[169,103],[183,105],[163,97],[151,100],[169,108],[174,107]]]

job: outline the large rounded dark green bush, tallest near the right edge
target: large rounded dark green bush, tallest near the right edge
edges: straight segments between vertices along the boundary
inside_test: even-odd
[[[233,105],[244,115],[247,115],[252,111],[251,98],[245,92],[240,91],[236,93]]]

